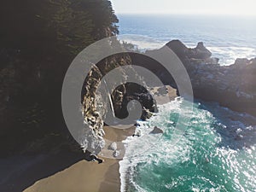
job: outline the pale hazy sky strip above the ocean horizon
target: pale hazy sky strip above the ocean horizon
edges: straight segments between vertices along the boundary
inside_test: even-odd
[[[256,15],[255,0],[111,0],[117,14]]]

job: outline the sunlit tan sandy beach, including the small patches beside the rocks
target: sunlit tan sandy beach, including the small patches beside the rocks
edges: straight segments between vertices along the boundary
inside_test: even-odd
[[[153,92],[157,92],[154,88]],[[166,101],[166,96],[155,96],[159,104],[171,101],[176,95],[176,90],[167,86],[168,96],[170,100]],[[113,151],[108,150],[108,146],[116,142],[120,151],[120,157],[125,154],[125,148],[121,141],[134,133],[135,127],[130,129],[114,129],[104,126],[106,133],[106,147],[102,150],[102,156],[112,156]],[[119,158],[120,158],[119,157]],[[89,162],[79,160],[79,162],[67,167],[67,169],[57,172],[52,176],[38,180],[32,186],[24,190],[24,192],[115,192],[120,191],[119,179],[119,160],[106,159],[104,163]]]

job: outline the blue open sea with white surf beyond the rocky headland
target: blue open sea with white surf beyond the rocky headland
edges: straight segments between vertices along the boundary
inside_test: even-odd
[[[189,47],[204,42],[221,65],[256,57],[256,17],[119,15],[119,31],[139,49],[157,49],[173,39]]]

